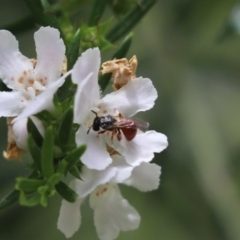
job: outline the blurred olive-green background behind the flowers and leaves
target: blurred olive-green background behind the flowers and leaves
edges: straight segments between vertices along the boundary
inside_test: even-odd
[[[121,187],[142,220],[119,240],[240,240],[240,38],[223,34],[237,3],[159,0],[134,29],[128,57],[137,55],[137,75],[152,79],[159,93],[154,109],[140,117],[168,136],[169,147],[154,159],[162,166],[158,190]],[[82,21],[85,10],[78,15]],[[0,28],[26,14],[22,1],[1,0]],[[29,57],[35,57],[36,29],[16,35]],[[2,152],[5,119],[0,124]],[[29,161],[0,158],[0,197],[15,177],[28,174]],[[0,240],[65,239],[56,228],[60,201],[55,196],[47,208],[16,204],[2,210]],[[71,239],[97,239],[88,201],[82,215]]]

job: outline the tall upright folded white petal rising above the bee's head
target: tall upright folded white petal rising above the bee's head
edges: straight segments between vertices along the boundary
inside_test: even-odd
[[[94,101],[100,99],[98,72],[100,67],[100,51],[98,48],[88,49],[73,67],[72,81],[78,84],[74,102],[74,122],[82,123],[91,110]]]

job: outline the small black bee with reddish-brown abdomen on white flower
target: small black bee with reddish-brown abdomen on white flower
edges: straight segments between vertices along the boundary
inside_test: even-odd
[[[92,126],[88,129],[87,134],[91,128],[98,132],[98,134],[110,131],[112,132],[112,139],[113,136],[116,135],[117,139],[120,141],[122,132],[125,138],[128,141],[131,141],[136,136],[138,129],[147,130],[149,126],[149,123],[144,122],[141,119],[124,118],[121,114],[119,114],[118,117],[111,115],[99,117],[96,112],[92,112],[96,117],[93,120]]]

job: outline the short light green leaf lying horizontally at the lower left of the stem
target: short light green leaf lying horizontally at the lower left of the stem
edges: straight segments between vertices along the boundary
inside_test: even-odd
[[[15,185],[16,190],[22,190],[25,193],[31,193],[34,191],[37,191],[37,188],[44,185],[44,180],[38,180],[38,179],[28,179],[28,178],[17,178],[17,183]]]

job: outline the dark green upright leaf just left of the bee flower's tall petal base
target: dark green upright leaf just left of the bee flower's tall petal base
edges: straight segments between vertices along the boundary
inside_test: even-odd
[[[72,133],[73,106],[69,107],[65,113],[59,128],[59,140],[62,145],[67,145]]]

